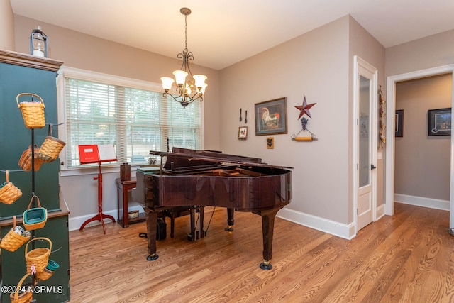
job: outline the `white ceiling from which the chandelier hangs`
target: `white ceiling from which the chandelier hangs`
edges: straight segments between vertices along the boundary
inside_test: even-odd
[[[347,14],[385,48],[454,28],[453,0],[10,1],[17,15],[169,57],[184,49],[189,7],[188,49],[216,70]]]

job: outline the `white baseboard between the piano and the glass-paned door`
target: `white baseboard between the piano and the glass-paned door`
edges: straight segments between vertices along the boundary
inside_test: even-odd
[[[284,207],[279,211],[277,217],[287,221],[294,222],[309,228],[314,228],[318,231],[330,233],[331,235],[338,236],[345,239],[352,239],[355,237],[355,224],[341,224],[336,221],[320,218],[319,216],[312,216],[304,214],[301,211],[295,211]]]

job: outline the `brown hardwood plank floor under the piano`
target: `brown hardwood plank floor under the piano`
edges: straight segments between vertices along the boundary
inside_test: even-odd
[[[448,211],[397,203],[350,241],[277,218],[268,271],[260,216],[235,215],[227,232],[226,210],[216,209],[194,242],[189,217],[175,220],[173,239],[167,219],[155,261],[138,237],[145,223],[71,231],[71,302],[454,302]]]

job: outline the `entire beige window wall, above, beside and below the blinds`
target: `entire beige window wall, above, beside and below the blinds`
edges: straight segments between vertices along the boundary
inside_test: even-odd
[[[172,71],[180,67],[176,58],[180,50],[175,50],[175,58],[165,57],[17,15],[14,16],[16,51],[30,52],[30,33],[38,25],[48,35],[49,57],[65,62],[64,66],[155,83],[160,83],[160,77],[172,75]],[[204,100],[206,126],[204,146],[207,149],[218,150],[220,148],[218,71],[199,66],[192,67],[192,70],[208,76],[209,87]],[[61,100],[59,102],[61,103]],[[103,211],[115,218],[117,217],[115,179],[118,177],[118,170],[103,173]],[[83,170],[83,174],[60,177],[62,193],[71,211],[70,228],[79,228],[79,225],[71,225],[72,220],[83,222],[97,213],[97,183],[92,178],[97,172],[86,169]],[[132,175],[134,176],[135,172]]]

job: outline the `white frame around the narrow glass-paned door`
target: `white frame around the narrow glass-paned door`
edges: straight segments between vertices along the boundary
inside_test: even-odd
[[[362,60],[361,57],[355,55],[353,57],[353,218],[355,222],[355,235],[358,233],[358,190],[359,190],[359,170],[358,170],[358,163],[359,163],[359,141],[358,141],[358,123],[360,119],[359,113],[359,87],[358,87],[358,77],[360,75],[360,67],[362,69],[367,70],[372,75],[372,79],[370,79],[370,108],[372,109],[372,115],[375,117],[378,116],[378,107],[377,107],[377,99],[378,99],[378,70],[377,68],[373,67],[365,60]],[[374,135],[377,133],[377,123],[371,123],[370,133],[372,136],[372,141],[374,140]],[[371,164],[377,164],[377,141],[373,141],[372,148],[370,150],[370,161]],[[377,220],[377,170],[373,170],[370,175],[370,183],[372,186],[372,222]]]

